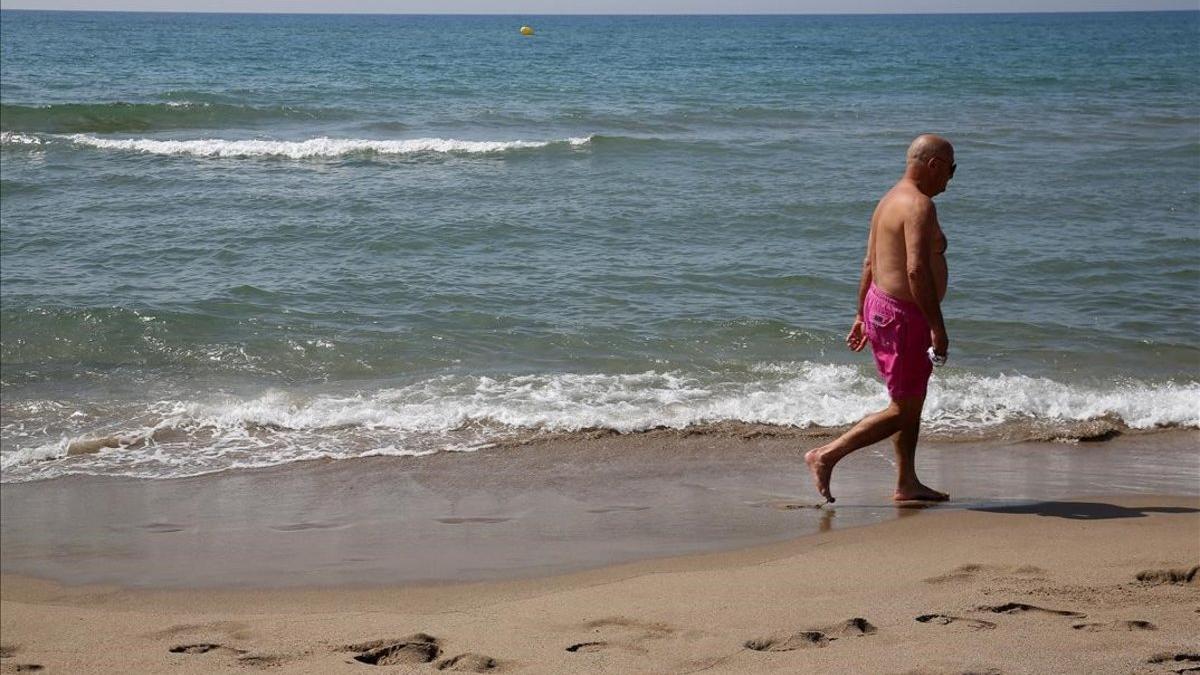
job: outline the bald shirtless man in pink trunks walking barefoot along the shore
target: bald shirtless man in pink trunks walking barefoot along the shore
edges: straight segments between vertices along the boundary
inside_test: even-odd
[[[888,191],[871,216],[863,277],[858,285],[858,315],[846,345],[858,352],[871,344],[875,365],[888,386],[892,402],[869,414],[836,441],[804,455],[817,491],[829,491],[833,467],[850,453],[892,437],[899,462],[895,501],[944,501],[917,479],[914,455],[920,410],[934,370],[929,347],[944,359],[949,339],[942,322],[946,297],[946,235],[937,222],[934,196],[954,177],[954,147],[934,135],[918,136],[908,147],[900,183]]]

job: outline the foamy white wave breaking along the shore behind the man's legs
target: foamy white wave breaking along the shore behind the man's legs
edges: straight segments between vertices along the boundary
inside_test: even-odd
[[[934,380],[924,417],[930,435],[946,440],[1103,440],[1128,429],[1200,428],[1198,402],[1198,382],[1096,387],[960,372]],[[761,364],[749,381],[679,371],[440,376],[353,395],[170,400],[98,425],[72,406],[30,404],[6,408],[5,444],[12,449],[0,454],[0,468],[8,482],[68,473],[166,478],[318,458],[470,450],[595,430],[832,429],[886,404],[863,370],[808,362]],[[18,428],[37,431],[13,435]],[[47,428],[61,434],[49,438]]]

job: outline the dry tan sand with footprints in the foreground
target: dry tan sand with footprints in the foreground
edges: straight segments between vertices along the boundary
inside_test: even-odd
[[[1200,665],[1196,565],[1200,498],[1139,495],[539,579],[146,590],[4,574],[2,667],[352,673],[403,644],[389,653],[414,673],[1165,674]]]

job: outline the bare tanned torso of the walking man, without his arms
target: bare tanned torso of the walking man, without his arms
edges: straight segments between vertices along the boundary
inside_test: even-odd
[[[913,301],[908,287],[908,256],[905,247],[904,227],[914,214],[922,213],[920,207],[932,208],[931,199],[922,195],[916,186],[900,181],[880,199],[871,217],[871,274],[872,281],[884,293],[901,300]],[[929,251],[929,267],[937,289],[937,299],[946,297],[946,285],[949,277],[946,267],[946,234],[937,222],[934,210],[934,227],[937,235],[932,239]]]

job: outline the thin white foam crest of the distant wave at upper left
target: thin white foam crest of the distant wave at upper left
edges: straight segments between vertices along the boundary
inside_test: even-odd
[[[104,150],[126,150],[151,155],[191,155],[197,157],[287,157],[292,160],[342,157],[347,155],[419,155],[419,154],[496,154],[552,144],[583,145],[590,141],[458,141],[454,138],[410,138],[373,141],[365,138],[310,138],[307,141],[160,141],[154,138],[101,138],[86,133],[66,137],[78,145]]]

